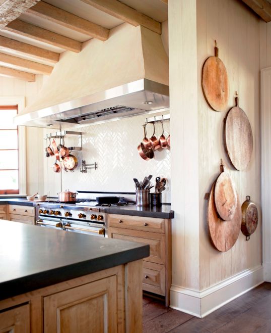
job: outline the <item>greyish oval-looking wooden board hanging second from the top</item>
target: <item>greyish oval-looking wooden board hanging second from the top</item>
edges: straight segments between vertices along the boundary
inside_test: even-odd
[[[238,106],[238,98],[226,116],[224,141],[233,166],[239,171],[245,170],[253,151],[253,134],[246,114]]]

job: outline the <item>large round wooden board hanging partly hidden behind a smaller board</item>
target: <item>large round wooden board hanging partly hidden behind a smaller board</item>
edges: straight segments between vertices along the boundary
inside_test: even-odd
[[[235,214],[231,221],[223,221],[219,218],[214,200],[214,187],[213,184],[207,209],[207,219],[209,233],[215,248],[220,252],[230,250],[238,239],[242,223],[242,211],[240,201],[237,195],[237,206]]]

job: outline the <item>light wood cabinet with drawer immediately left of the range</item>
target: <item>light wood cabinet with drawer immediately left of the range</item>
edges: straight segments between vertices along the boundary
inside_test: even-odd
[[[8,205],[8,220],[35,224],[35,208],[31,206]]]

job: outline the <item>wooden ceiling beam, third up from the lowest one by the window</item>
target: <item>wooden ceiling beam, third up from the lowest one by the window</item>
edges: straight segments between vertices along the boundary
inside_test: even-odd
[[[19,56],[31,56],[42,61],[55,64],[59,61],[59,53],[41,49],[21,41],[0,36],[0,51],[14,51]]]

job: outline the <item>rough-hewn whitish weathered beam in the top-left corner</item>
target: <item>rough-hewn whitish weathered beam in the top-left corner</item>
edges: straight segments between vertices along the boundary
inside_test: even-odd
[[[0,29],[17,19],[28,8],[36,5],[39,0],[2,0],[0,1]]]

